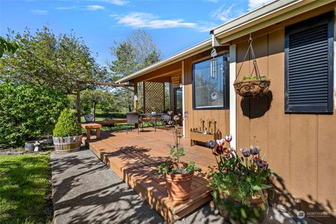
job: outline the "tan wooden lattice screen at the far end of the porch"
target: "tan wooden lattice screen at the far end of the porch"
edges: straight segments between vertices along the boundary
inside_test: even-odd
[[[144,113],[165,111],[165,83],[144,82]]]

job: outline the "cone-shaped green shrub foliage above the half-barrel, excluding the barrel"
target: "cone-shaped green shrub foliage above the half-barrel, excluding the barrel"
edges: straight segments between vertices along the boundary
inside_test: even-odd
[[[81,133],[82,130],[73,112],[69,109],[64,109],[55,125],[54,137],[71,137]]]

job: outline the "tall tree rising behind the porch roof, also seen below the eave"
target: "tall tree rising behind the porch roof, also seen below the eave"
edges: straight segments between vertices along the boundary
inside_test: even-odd
[[[113,81],[158,62],[162,56],[153,38],[144,30],[134,31],[121,43],[115,42],[111,54],[116,57],[116,60],[109,63]],[[132,111],[133,93],[124,88],[118,88],[114,92],[118,109]]]

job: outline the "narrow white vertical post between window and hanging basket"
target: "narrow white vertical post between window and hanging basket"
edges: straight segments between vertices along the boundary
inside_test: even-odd
[[[236,79],[236,45],[230,45],[230,134],[233,135],[232,147],[237,148],[236,92],[233,83]]]

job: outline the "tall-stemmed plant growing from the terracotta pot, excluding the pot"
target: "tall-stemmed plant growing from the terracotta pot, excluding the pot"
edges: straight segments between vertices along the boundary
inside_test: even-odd
[[[168,114],[172,116],[172,111],[169,111]],[[171,164],[167,164],[166,162],[160,163],[158,165],[158,174],[189,174],[194,171],[200,172],[201,169],[195,167],[195,162],[189,162],[186,164],[185,162],[181,162],[180,158],[184,156],[184,148],[181,146],[181,128],[179,127],[179,120],[181,118],[181,114],[174,115],[172,120],[169,120],[169,125],[173,126],[172,132],[174,137],[174,145],[169,146],[170,152],[169,154],[174,159],[174,162]]]

